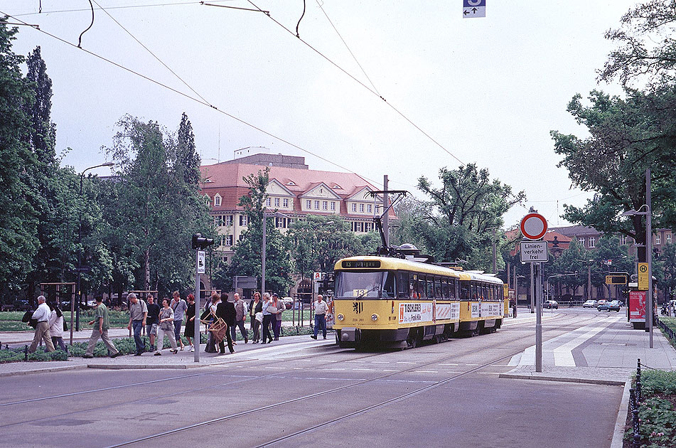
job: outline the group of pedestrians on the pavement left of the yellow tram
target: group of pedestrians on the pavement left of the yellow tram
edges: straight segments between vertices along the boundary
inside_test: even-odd
[[[127,296],[129,300],[129,324],[127,328],[133,331],[136,353],[134,356],[141,356],[146,351],[145,341],[141,337],[143,329],[150,340],[150,351],[155,356],[161,356],[163,349],[164,336],[167,336],[171,345],[170,352],[178,353],[186,348],[181,338],[181,326],[185,327],[184,336],[188,341],[188,350],[194,351],[193,339],[195,338],[195,297],[188,294],[187,302],[181,299],[178,291],[173,292],[172,298],[164,297],[161,304],[155,303],[155,297],[148,294],[146,301],[140,299],[134,292]],[[313,303],[315,312],[314,334],[311,338],[317,338],[318,332],[326,339],[326,313],[328,306],[323,301],[323,297],[318,295],[317,301]],[[214,331],[208,331],[209,338],[205,351],[215,353],[217,348],[221,354],[225,354],[225,344],[230,353],[235,353],[235,339],[237,329],[240,330],[245,343],[249,342],[249,332],[245,326],[247,316],[250,319],[250,329],[253,334],[252,343],[272,343],[279,341],[281,331],[282,313],[286,310],[284,301],[279,298],[277,293],[269,294],[264,292],[261,296],[259,292],[254,292],[251,302],[245,302],[240,294],[235,293],[231,300],[228,300],[227,294],[218,294],[213,292],[210,300],[205,304],[205,309],[200,319],[206,321],[208,329],[210,324],[220,318],[227,325],[225,331],[225,341],[220,338],[217,341]],[[36,351],[38,343],[44,341],[47,351],[54,351],[55,346],[61,350],[67,351],[63,343],[63,312],[58,305],[47,304],[44,296],[38,297],[38,309],[33,312],[32,319],[37,321],[36,332],[33,343],[28,349],[33,353]],[[185,325],[183,325],[185,321]],[[97,297],[95,306],[95,316],[89,322],[92,328],[92,335],[87,343],[87,350],[84,358],[93,358],[94,348],[97,341],[101,339],[108,350],[109,356],[115,358],[119,356],[119,351],[108,336],[110,327],[109,313],[107,306],[102,302],[101,297]],[[197,339],[197,342],[199,340]]]

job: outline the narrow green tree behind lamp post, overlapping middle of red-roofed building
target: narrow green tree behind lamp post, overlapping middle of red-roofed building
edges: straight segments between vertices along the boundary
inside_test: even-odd
[[[269,168],[250,174],[244,178],[249,185],[249,195],[240,198],[239,205],[244,207],[248,226],[241,239],[233,250],[235,255],[230,260],[227,273],[234,275],[250,275],[261,277],[262,257],[262,230],[264,203],[267,198],[266,190],[269,184]],[[272,211],[272,210],[270,210]],[[266,218],[266,258],[265,258],[265,289],[277,292],[280,295],[289,291],[293,283],[291,273],[291,244],[274,225],[274,218]]]

